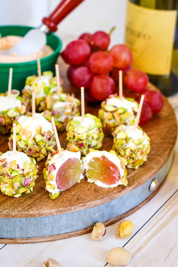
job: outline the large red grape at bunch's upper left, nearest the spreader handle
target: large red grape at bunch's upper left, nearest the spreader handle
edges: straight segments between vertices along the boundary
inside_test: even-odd
[[[90,52],[90,46],[84,40],[75,40],[66,46],[61,55],[66,63],[77,65],[83,63]]]

